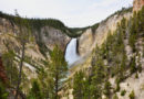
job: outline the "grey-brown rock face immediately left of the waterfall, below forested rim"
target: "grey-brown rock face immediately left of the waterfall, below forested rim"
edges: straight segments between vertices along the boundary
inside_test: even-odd
[[[37,33],[38,34],[38,33]],[[35,38],[41,36],[41,41],[47,45],[48,48],[53,50],[53,46],[56,44],[60,46],[62,51],[65,50],[66,44],[70,42],[70,37],[63,33],[61,30],[51,28],[51,26],[43,26]]]

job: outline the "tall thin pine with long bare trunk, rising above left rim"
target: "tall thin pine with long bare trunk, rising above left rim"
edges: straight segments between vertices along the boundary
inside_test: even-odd
[[[19,15],[16,16],[16,21],[18,22],[19,32],[17,34],[17,40],[21,44],[21,57],[20,57],[20,66],[19,66],[19,75],[18,75],[18,85],[17,85],[17,94],[16,99],[18,99],[20,84],[21,84],[21,75],[22,75],[22,66],[24,61],[24,52],[25,52],[25,44],[30,41],[30,25],[27,19],[22,19]]]

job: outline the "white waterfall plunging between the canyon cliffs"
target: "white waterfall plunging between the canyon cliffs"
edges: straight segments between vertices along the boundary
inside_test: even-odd
[[[65,61],[68,65],[71,66],[73,63],[80,59],[80,56],[76,53],[76,38],[72,38],[66,46],[65,51]]]

